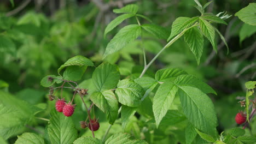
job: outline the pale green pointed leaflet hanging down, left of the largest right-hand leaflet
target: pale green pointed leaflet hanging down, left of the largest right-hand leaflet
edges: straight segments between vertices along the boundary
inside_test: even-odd
[[[155,116],[156,128],[158,128],[162,118],[166,115],[178,88],[171,82],[160,85],[153,100],[153,112]]]

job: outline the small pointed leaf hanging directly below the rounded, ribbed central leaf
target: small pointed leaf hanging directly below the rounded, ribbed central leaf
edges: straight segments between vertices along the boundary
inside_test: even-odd
[[[137,107],[129,107],[126,105],[122,105],[121,121],[122,121],[123,129],[125,129],[127,123],[129,123],[130,119],[135,114],[136,110],[137,110]]]

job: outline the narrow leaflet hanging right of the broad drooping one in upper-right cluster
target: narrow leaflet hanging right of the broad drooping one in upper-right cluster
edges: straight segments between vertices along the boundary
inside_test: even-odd
[[[215,31],[214,27],[208,21],[199,18],[200,29],[203,35],[211,42],[213,49],[217,52],[217,46],[215,43]]]

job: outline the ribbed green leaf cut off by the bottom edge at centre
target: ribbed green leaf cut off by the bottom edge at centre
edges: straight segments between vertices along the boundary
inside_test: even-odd
[[[147,144],[146,141],[143,140],[131,140],[131,135],[128,133],[117,133],[110,136],[105,144],[113,144],[113,143],[125,143],[125,144]]]

